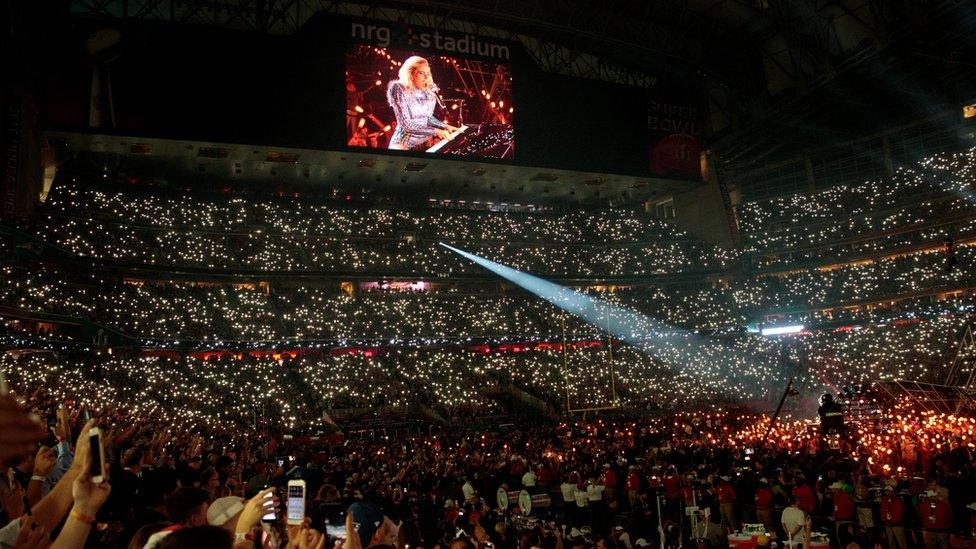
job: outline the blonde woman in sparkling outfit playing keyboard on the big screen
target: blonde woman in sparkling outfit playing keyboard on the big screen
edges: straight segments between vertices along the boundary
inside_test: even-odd
[[[413,55],[400,66],[399,79],[386,88],[386,100],[393,108],[397,127],[390,137],[390,148],[425,150],[434,136],[450,139],[458,128],[434,118],[437,85],[430,74],[430,64]]]

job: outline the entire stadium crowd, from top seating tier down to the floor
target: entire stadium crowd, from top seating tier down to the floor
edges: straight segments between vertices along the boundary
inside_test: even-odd
[[[968,412],[878,402],[873,419],[830,438],[808,421],[728,410],[768,405],[788,380],[805,402],[825,387],[944,381],[972,322],[976,257],[959,246],[950,262],[930,245],[976,228],[974,160],[940,155],[890,180],[746,204],[745,257],[782,271],[749,276],[732,269],[737,252],[632,210],[396,210],[61,181],[20,229],[71,258],[59,265],[0,238],[0,254],[30,257],[0,264],[0,307],[140,344],[96,341],[79,354],[56,337],[31,352],[0,339],[20,349],[0,355],[17,395],[0,396],[0,547],[321,547],[344,536],[350,549],[724,549],[727,529],[750,523],[769,549],[796,539],[811,549],[810,529],[835,548],[958,545],[976,524]],[[367,292],[338,282],[481,273],[441,241],[589,279],[584,292],[638,314],[608,307],[589,324],[483,283]],[[807,264],[838,258],[859,261]],[[103,264],[79,272],[79,259]],[[119,274],[134,266],[155,276]],[[166,280],[185,268],[196,271]],[[231,272],[248,277],[207,279]],[[649,275],[676,280],[600,286]],[[933,299],[945,293],[955,297]],[[757,321],[808,327],[772,339],[746,332]],[[533,419],[473,427],[513,400]],[[553,410],[604,407],[644,417],[535,426]],[[329,419],[383,408],[442,427],[343,435]],[[92,478],[94,424],[111,490]],[[296,475],[309,481],[308,522],[262,530],[264,487]],[[499,487],[551,503],[540,498],[531,519],[500,511]]]

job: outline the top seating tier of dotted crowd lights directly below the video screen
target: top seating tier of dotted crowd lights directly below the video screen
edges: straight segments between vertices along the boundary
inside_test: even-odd
[[[721,270],[736,257],[633,210],[446,213],[240,200],[132,196],[62,181],[40,236],[93,259],[272,272],[475,272],[436,246],[445,237],[520,269],[566,276]]]

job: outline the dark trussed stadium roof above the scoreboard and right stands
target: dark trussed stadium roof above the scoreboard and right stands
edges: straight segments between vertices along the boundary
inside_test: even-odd
[[[695,82],[710,148],[738,165],[976,96],[966,0],[70,0],[70,11],[272,33],[326,12],[508,38],[553,72]]]

